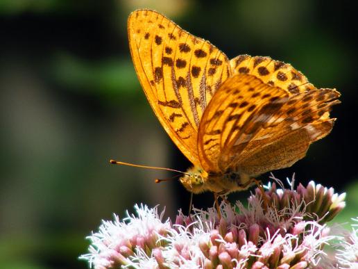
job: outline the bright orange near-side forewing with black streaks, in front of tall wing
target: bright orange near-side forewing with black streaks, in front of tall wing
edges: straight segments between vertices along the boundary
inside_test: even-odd
[[[203,168],[225,171],[230,158],[235,157],[225,152],[230,152],[228,149],[244,124],[262,124],[287,98],[284,90],[266,85],[252,75],[236,74],[227,79],[207,106],[199,127],[198,152]],[[250,140],[250,133],[246,135],[241,138]],[[222,158],[227,159],[222,161]]]

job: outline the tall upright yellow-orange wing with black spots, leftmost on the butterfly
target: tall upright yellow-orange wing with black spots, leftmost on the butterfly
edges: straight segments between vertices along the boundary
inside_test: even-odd
[[[198,126],[212,95],[230,76],[228,58],[153,10],[130,14],[128,36],[135,70],[155,114],[182,153],[200,165]]]

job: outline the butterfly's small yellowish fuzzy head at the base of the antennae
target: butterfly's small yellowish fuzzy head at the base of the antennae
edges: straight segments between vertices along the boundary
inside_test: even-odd
[[[183,177],[180,177],[182,185],[191,193],[203,193],[205,188],[205,180],[207,172],[203,168],[194,166],[187,170]]]

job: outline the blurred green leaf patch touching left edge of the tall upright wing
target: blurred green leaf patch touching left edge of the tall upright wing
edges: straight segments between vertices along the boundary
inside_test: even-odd
[[[58,54],[53,59],[51,68],[55,83],[67,90],[77,91],[78,95],[93,95],[110,101],[119,106],[123,101],[135,103],[142,92],[137,75],[130,58],[108,60],[101,59],[93,62],[82,60],[67,54]],[[82,92],[82,93],[81,93]],[[135,109],[143,107],[141,102]]]

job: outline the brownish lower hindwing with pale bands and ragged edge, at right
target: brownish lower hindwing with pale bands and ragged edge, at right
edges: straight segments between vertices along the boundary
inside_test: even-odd
[[[329,112],[332,106],[339,104],[339,96],[339,92],[332,89],[290,96],[280,111],[241,147],[241,152],[230,149],[232,154],[236,152],[232,166],[250,175],[291,166],[305,156],[312,142],[330,133],[335,119],[330,119]]]

